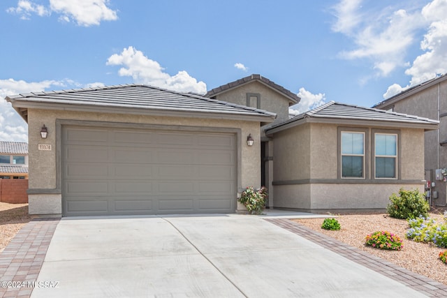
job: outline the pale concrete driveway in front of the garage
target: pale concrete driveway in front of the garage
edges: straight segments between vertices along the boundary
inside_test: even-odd
[[[63,218],[31,297],[425,297],[258,216]],[[56,287],[56,288],[54,288]]]

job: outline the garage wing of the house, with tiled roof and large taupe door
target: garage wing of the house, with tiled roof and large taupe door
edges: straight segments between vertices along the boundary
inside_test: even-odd
[[[234,212],[259,186],[259,128],[276,117],[138,84],[6,100],[28,123],[29,213],[41,216]]]

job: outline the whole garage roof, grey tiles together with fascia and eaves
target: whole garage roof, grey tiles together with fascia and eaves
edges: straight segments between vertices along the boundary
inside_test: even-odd
[[[276,114],[254,107],[226,103],[195,94],[185,94],[144,84],[124,84],[62,91],[33,92],[7,96],[27,121],[29,107],[89,112],[119,112],[181,117],[219,117],[271,122]],[[186,112],[186,113],[185,113]]]

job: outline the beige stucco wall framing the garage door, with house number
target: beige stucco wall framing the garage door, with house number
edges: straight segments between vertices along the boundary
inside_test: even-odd
[[[124,124],[156,124],[161,126],[194,126],[198,128],[240,128],[240,148],[237,149],[240,153],[240,160],[238,161],[240,163],[238,165],[240,169],[240,177],[238,177],[237,185],[238,191],[243,191],[246,186],[261,186],[261,169],[259,166],[261,162],[259,154],[261,150],[261,137],[259,122],[257,121],[29,109],[29,188],[31,190],[54,190],[57,188],[56,140],[60,137],[60,135],[56,134],[57,119],[119,122]],[[47,139],[42,139],[40,135],[43,124],[48,129]],[[251,136],[255,140],[252,147],[247,146],[246,142],[249,133],[251,133]],[[52,145],[52,150],[40,151],[38,150],[38,144],[50,144]],[[48,195],[42,192],[38,195],[30,194],[29,209],[30,214],[32,214],[31,212],[36,212],[34,214],[54,214],[56,210],[61,214],[61,197],[60,195],[59,197],[55,196],[51,191],[49,191]]]

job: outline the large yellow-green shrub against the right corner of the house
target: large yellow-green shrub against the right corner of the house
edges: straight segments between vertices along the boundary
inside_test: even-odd
[[[400,188],[399,195],[393,193],[390,196],[390,203],[386,208],[388,214],[394,218],[417,218],[427,217],[430,211],[430,204],[425,200],[425,195],[419,193],[418,189],[405,191]]]

